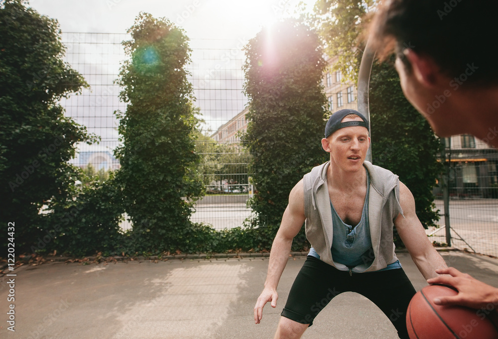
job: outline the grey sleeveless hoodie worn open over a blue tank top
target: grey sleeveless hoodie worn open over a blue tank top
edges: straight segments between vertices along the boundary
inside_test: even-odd
[[[330,161],[316,166],[303,178],[306,237],[322,261],[340,270],[350,270],[335,262],[330,250],[333,227],[326,175],[329,165]],[[398,260],[392,230],[394,220],[399,214],[403,215],[399,205],[398,176],[368,161],[364,166],[370,173],[369,221],[373,253],[365,258],[364,263],[351,269],[357,273],[377,271]]]

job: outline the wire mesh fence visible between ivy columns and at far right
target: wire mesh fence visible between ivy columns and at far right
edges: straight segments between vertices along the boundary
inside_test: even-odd
[[[129,38],[127,34],[112,33],[62,34],[67,62],[91,86],[81,95],[64,99],[62,105],[68,116],[101,137],[98,145],[79,145],[73,163],[102,180],[109,171],[120,167],[114,157],[119,143],[119,121],[113,113],[124,112],[126,105],[119,100],[120,88],[115,80],[125,58],[121,42]],[[201,173],[207,192],[196,204],[192,221],[216,229],[243,226],[251,215],[246,204],[252,194],[247,173],[249,154],[240,141],[240,133],[247,127],[248,101],[243,94],[242,71],[245,60],[242,49],[246,42],[216,39],[190,42],[189,80],[202,120],[197,149],[203,159]],[[328,90],[332,90],[334,83],[331,74],[324,76]],[[338,93],[327,95],[335,99]],[[428,229],[427,234],[438,244],[449,242],[453,247],[498,256],[497,150],[473,136],[455,136],[446,140],[443,161],[447,163],[448,209],[445,213],[441,185],[444,178],[441,178],[434,189],[441,220],[438,228]],[[123,227],[131,225],[124,223]]]

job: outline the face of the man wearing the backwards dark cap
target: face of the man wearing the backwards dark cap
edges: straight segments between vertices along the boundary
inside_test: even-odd
[[[363,121],[362,118],[345,117],[341,122]],[[350,126],[336,130],[322,139],[322,146],[331,155],[331,161],[345,171],[358,171],[369,149],[370,137],[367,128]]]

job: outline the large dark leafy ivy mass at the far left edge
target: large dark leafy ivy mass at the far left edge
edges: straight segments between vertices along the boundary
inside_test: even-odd
[[[88,84],[63,61],[57,21],[25,3],[0,6],[0,229],[6,234],[15,223],[19,252],[50,230],[42,206],[72,191],[78,171],[68,160],[76,143],[96,141],[58,104]]]

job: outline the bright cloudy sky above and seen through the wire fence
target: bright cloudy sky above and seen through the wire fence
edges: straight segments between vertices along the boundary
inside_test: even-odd
[[[302,1],[312,10],[316,0]],[[71,96],[61,104],[66,115],[102,137],[99,145],[80,144],[80,151],[111,151],[118,144],[116,109],[124,110],[113,85],[124,53],[109,55],[102,44],[78,44],[88,41],[89,34],[125,33],[139,12],[166,17],[185,30],[190,38],[194,96],[206,120],[205,134],[244,110],[242,47],[261,30],[295,12],[300,0],[30,0],[38,13],[55,18],[63,32],[66,56],[71,66],[91,85],[80,96]],[[71,33],[68,33],[71,32]],[[110,35],[102,35],[106,40]],[[213,41],[215,39],[216,41]],[[76,41],[71,44],[69,41]],[[74,55],[71,53],[74,52]],[[111,60],[112,61],[108,61]],[[81,63],[81,64],[78,64]],[[226,70],[219,69],[220,66]],[[215,72],[216,70],[216,72]],[[98,76],[105,74],[106,77]],[[196,80],[197,79],[197,80]],[[77,163],[79,160],[76,159]]]

